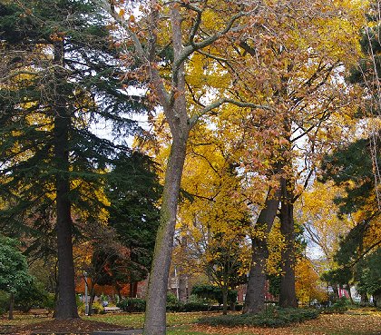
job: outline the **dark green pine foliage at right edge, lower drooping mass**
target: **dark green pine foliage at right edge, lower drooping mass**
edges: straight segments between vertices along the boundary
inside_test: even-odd
[[[380,141],[376,145],[380,147]],[[381,154],[377,154],[377,162],[381,162]],[[368,260],[373,260],[372,253],[367,254],[379,250],[381,243],[381,241],[375,240],[372,245],[366,247],[363,243],[371,226],[370,222],[377,220],[376,218],[380,215],[376,203],[375,177],[369,140],[361,139],[355,143],[350,143],[347,147],[338,149],[336,153],[325,157],[322,169],[324,172],[323,182],[333,180],[337,185],[345,186],[346,194],[336,199],[340,210],[338,214],[347,215],[359,210],[365,214],[364,219],[358,222],[340,241],[339,249],[335,255],[335,260],[340,265],[340,269],[337,270],[337,273],[332,273],[336,275],[343,271],[346,273],[350,271],[351,274],[346,274],[346,276],[362,285],[363,269],[368,268],[366,265]]]

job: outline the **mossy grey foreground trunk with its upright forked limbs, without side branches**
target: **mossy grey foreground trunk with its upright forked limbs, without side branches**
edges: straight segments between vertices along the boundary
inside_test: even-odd
[[[143,330],[144,335],[165,335],[166,333],[168,277],[171,266],[171,252],[173,247],[181,176],[190,133],[190,119],[187,114],[187,100],[185,96],[185,66],[184,61],[180,61],[183,49],[181,41],[181,23],[182,18],[179,8],[176,5],[172,5],[171,24],[173,62],[180,63],[178,73],[172,77],[172,86],[176,88],[176,94],[174,94],[170,101],[168,100],[168,95],[164,93],[163,87],[161,87],[159,74],[155,71],[152,72],[153,82],[157,82],[158,84],[156,93],[161,99],[165,116],[171,128],[172,143],[171,153],[165,172],[164,190],[161,200],[161,219],[156,235],[150,281],[148,284],[147,306],[145,310]],[[152,24],[156,24],[154,17]]]

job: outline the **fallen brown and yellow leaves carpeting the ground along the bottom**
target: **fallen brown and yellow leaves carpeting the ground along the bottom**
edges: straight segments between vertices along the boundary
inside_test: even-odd
[[[129,329],[121,325],[127,325],[131,318],[142,319],[142,315],[118,315],[112,321],[119,319],[119,324],[107,323],[96,320],[44,320],[36,323],[16,326],[0,323],[0,334],[9,335],[32,335],[33,333],[66,333],[66,334],[91,334],[95,330],[123,330]],[[171,319],[171,318],[169,318]],[[185,323],[182,313],[174,315],[172,325]],[[102,320],[99,318],[98,320]],[[181,322],[180,322],[181,320]],[[24,322],[24,320],[21,320]],[[123,322],[122,322],[123,321]],[[130,328],[132,325],[130,324]],[[180,331],[180,330],[179,330]],[[349,310],[346,314],[324,314],[317,320],[308,320],[300,324],[277,329],[259,327],[210,327],[205,325],[185,326],[181,334],[221,334],[221,335],[381,335],[381,312],[367,310]]]

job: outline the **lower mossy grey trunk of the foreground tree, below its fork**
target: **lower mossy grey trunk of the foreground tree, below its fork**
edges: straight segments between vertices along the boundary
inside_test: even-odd
[[[187,139],[188,133],[182,138],[173,137],[171,145],[162,195],[161,222],[157,232],[148,285],[143,331],[145,335],[164,335],[166,333],[167,285]]]

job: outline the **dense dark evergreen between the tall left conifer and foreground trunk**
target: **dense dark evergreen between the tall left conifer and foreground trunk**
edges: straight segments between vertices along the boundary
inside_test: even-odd
[[[116,281],[144,280],[150,269],[160,210],[161,186],[156,166],[141,153],[122,154],[114,162],[109,179],[109,224],[129,251],[127,271]]]

